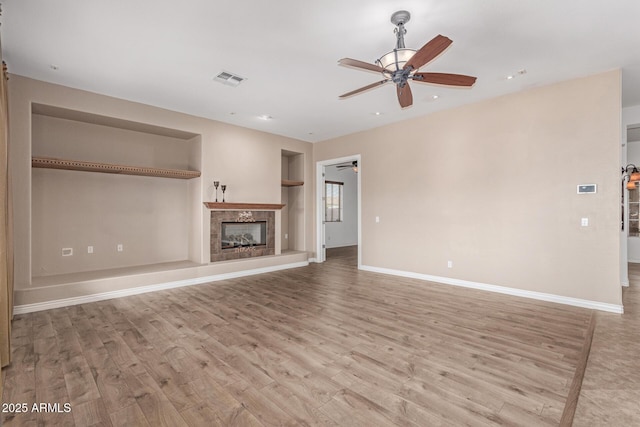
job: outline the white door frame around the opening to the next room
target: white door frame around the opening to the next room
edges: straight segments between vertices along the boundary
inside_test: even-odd
[[[327,166],[338,163],[358,162],[358,269],[362,266],[362,157],[354,154],[335,159],[316,162],[316,262],[324,262],[327,259],[324,223],[324,172]]]

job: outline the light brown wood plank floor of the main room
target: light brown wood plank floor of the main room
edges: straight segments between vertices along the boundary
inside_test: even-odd
[[[324,264],[16,316],[3,425],[558,425],[591,311]]]

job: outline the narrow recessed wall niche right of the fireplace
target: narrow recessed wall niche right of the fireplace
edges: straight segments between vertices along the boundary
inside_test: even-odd
[[[282,150],[282,251],[304,250],[304,154]]]

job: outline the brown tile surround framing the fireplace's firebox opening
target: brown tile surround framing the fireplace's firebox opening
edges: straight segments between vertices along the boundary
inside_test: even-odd
[[[267,245],[261,247],[222,249],[222,223],[247,222],[247,212],[256,222],[267,222]],[[242,214],[242,215],[241,215]],[[274,211],[254,210],[212,210],[211,211],[211,262],[252,258],[275,254],[275,217]]]

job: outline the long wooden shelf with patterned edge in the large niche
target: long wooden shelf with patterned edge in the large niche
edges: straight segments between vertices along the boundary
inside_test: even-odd
[[[127,166],[112,163],[85,162],[82,160],[55,159],[51,157],[33,157],[31,159],[31,166],[34,168],[154,176],[160,178],[192,179],[200,176],[199,171]]]

